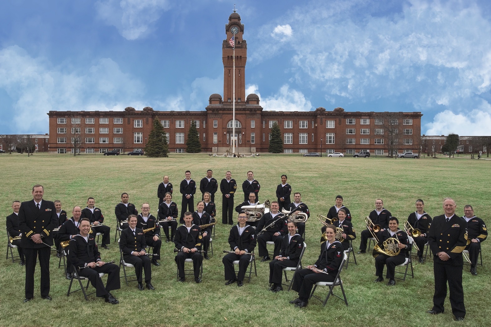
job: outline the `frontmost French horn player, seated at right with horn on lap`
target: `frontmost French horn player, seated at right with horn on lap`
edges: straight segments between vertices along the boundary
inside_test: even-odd
[[[376,282],[383,281],[383,266],[387,266],[387,279],[389,282],[387,285],[393,286],[396,284],[394,280],[395,268],[406,261],[409,257],[409,252],[411,251],[411,244],[409,244],[408,234],[404,230],[399,229],[399,220],[396,217],[389,217],[389,228],[377,233],[377,238],[379,239],[379,246],[384,252],[388,252],[389,248],[384,246],[383,243],[389,238],[395,238],[399,243],[395,242],[395,246],[401,249],[401,252],[397,255],[387,255],[380,253],[375,258],[375,279]],[[375,250],[374,250],[375,251]],[[396,250],[397,251],[397,250]]]

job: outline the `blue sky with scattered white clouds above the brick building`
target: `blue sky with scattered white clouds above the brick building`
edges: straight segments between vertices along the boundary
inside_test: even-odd
[[[0,2],[0,134],[50,110],[205,110],[236,4],[264,110],[420,111],[426,135],[491,135],[487,0]]]

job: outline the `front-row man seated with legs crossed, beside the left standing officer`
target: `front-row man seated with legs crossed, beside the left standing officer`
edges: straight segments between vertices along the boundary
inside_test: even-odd
[[[80,210],[80,207],[76,207]],[[95,244],[92,234],[88,234],[90,229],[90,220],[83,218],[80,221],[80,234],[75,235],[70,240],[68,256],[70,262],[77,268],[77,274],[87,277],[90,283],[96,289],[96,295],[103,297],[105,302],[118,304],[119,301],[114,298],[110,291],[120,288],[119,266],[113,263],[105,263],[101,260],[101,253]],[[82,269],[81,269],[82,268]],[[108,275],[106,286],[99,277],[99,273]]]

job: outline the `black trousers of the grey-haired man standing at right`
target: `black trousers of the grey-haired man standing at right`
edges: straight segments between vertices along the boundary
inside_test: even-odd
[[[433,295],[433,310],[443,312],[443,304],[447,297],[447,281],[450,289],[450,305],[455,317],[465,317],[464,289],[462,287],[463,266],[452,266],[433,261],[435,276],[435,294]]]

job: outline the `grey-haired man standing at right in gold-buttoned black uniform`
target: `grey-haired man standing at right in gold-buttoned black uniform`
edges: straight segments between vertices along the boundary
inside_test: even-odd
[[[433,308],[427,312],[434,315],[443,313],[448,281],[452,313],[455,320],[461,321],[465,317],[462,251],[467,243],[467,223],[455,214],[455,208],[455,201],[445,198],[444,214],[433,218],[428,231],[428,242],[433,252],[435,293]]]

